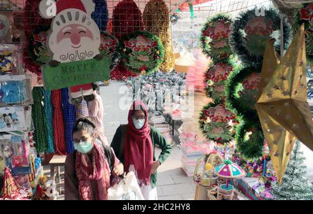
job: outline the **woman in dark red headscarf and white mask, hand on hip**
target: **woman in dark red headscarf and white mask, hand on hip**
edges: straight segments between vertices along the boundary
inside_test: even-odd
[[[159,159],[155,157],[156,145],[161,148]],[[157,129],[149,126],[147,106],[142,101],[132,104],[128,124],[117,129],[111,147],[125,165],[125,172],[135,172],[143,197],[157,200],[157,169],[172,147]]]

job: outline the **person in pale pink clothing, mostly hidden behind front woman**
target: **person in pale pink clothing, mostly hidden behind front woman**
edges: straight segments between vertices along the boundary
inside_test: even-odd
[[[103,145],[109,145],[108,140],[106,139],[106,135],[104,135],[104,125],[103,125],[103,116],[104,116],[104,108],[102,103],[102,98],[97,93],[98,85],[92,83],[93,85],[93,94],[95,95],[95,99],[93,101],[88,102],[88,113],[90,120],[95,124],[95,132],[97,138],[103,143]]]

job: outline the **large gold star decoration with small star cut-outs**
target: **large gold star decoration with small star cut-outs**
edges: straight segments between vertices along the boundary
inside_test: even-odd
[[[313,122],[311,112],[307,110],[310,107],[307,104],[307,83],[303,78],[306,74],[304,26],[294,36],[280,65],[270,65],[267,58],[278,59],[273,43],[269,41],[264,52],[263,79],[261,77],[260,81],[260,85],[265,86],[259,90],[257,113],[270,148],[278,183],[281,183],[296,138],[313,150]],[[268,67],[273,68],[273,74],[265,82],[264,71],[268,74]],[[277,85],[281,86],[280,90],[273,91]],[[272,96],[268,97],[268,93],[272,93]],[[268,106],[275,108],[270,110]],[[277,109],[280,109],[279,114]],[[265,120],[269,122],[265,124]],[[282,131],[278,131],[278,127]],[[275,131],[270,134],[268,129]]]

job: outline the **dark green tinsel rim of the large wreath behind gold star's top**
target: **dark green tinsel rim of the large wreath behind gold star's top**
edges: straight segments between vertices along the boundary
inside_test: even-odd
[[[255,10],[257,8],[254,8],[252,10],[247,10],[239,15],[239,18],[234,21],[234,24],[232,25],[232,35],[230,35],[230,44],[232,46],[232,49],[234,50],[234,53],[238,54],[241,58],[241,61],[247,65],[247,66],[254,66],[259,67],[262,66],[263,62],[263,54],[261,56],[256,56],[255,54],[251,53],[244,45],[244,35],[243,30],[246,28],[248,22],[257,17],[255,15]],[[268,21],[271,21],[273,23],[272,28],[273,31],[280,30],[280,15],[278,13],[278,10],[275,10],[273,8],[270,8],[268,10],[265,10],[265,19]],[[284,48],[287,48],[287,45],[289,43],[289,34],[290,34],[290,27],[287,23],[286,19],[284,19]],[[266,42],[266,40],[264,40]],[[252,45],[255,46],[255,42],[252,42]],[[280,40],[276,41],[275,47],[278,51],[280,51]]]

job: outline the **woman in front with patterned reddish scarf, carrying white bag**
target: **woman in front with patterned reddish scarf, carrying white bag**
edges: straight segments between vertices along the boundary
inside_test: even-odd
[[[75,122],[74,154],[65,160],[65,200],[106,200],[116,176],[124,173],[111,147],[95,138],[95,124],[86,118]]]

